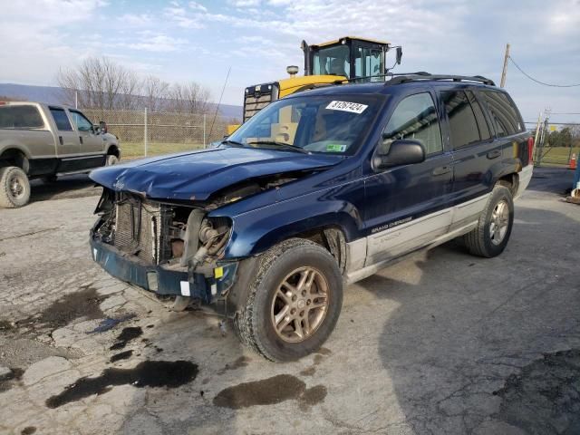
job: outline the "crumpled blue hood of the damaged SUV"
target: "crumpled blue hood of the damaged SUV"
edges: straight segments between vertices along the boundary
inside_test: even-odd
[[[135,160],[95,169],[89,177],[106,188],[148,198],[205,200],[245,179],[324,168],[341,160],[336,155],[223,148]]]

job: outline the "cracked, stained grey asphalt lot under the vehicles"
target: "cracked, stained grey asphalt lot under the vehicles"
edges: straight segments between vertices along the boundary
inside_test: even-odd
[[[92,263],[99,189],[0,210],[0,433],[580,433],[580,206],[536,169],[502,256],[454,243],[349,286],[324,348],[275,364]]]

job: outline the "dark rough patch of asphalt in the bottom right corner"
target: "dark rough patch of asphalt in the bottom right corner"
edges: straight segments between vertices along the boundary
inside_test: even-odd
[[[580,350],[546,353],[494,394],[496,418],[530,434],[580,433]]]

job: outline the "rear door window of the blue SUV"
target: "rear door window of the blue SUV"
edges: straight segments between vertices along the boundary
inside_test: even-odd
[[[449,120],[449,136],[451,146],[457,150],[479,138],[478,123],[469,104],[468,96],[463,91],[441,92],[441,101]]]

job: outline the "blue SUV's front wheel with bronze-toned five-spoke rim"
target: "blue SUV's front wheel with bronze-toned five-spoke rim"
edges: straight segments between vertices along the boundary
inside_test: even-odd
[[[323,345],[342,304],[343,278],[333,256],[292,238],[261,256],[234,325],[241,341],[268,360],[295,361]]]

